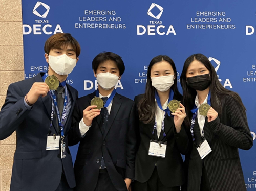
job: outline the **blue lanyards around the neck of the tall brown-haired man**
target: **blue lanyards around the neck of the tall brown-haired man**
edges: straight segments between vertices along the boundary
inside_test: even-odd
[[[42,77],[42,79],[45,81],[47,76],[48,76],[48,73],[45,73],[45,75]],[[60,127],[60,132],[61,132],[61,138],[63,140],[64,137],[65,137],[64,136],[64,123],[66,121],[66,118],[68,117],[67,116],[67,113],[68,113],[68,91],[67,91],[66,81],[62,82],[61,85],[62,86],[64,85],[64,88],[65,88],[65,99],[64,99],[64,106],[63,106],[63,111],[62,111],[61,118],[60,118],[57,99],[56,99],[56,96],[55,96],[53,90],[50,90],[50,95],[51,95],[52,101],[53,101],[55,109],[56,109],[56,113],[57,113],[57,116],[58,116],[59,127]],[[54,108],[53,108],[53,105],[52,105],[50,128],[52,127],[53,116],[54,116]]]

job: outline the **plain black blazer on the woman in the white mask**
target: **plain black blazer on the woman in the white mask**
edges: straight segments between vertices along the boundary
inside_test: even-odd
[[[136,108],[142,97],[143,94],[135,97]],[[157,164],[158,176],[165,186],[174,187],[182,185],[185,182],[185,173],[180,153],[184,155],[189,150],[189,139],[184,127],[182,126],[180,133],[177,133],[174,117],[166,115],[164,119],[166,138],[164,138],[162,130],[159,136],[159,141],[167,140],[166,156],[165,158],[149,156],[150,140],[158,140],[157,133],[155,133],[155,136],[152,134],[154,122],[144,124],[139,121],[138,108],[136,116],[136,123],[139,126],[139,149],[135,161],[135,180],[141,183],[148,181]]]

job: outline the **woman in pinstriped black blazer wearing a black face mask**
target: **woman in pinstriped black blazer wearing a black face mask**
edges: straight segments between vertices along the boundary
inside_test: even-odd
[[[253,139],[241,98],[220,84],[214,67],[202,54],[185,61],[180,80],[187,113],[184,122],[192,146],[186,154],[188,176],[183,189],[245,191],[238,148],[250,149]],[[206,152],[200,156],[198,150],[203,147]]]

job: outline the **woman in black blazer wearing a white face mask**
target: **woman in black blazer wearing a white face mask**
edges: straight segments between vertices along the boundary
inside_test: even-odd
[[[189,150],[189,139],[182,126],[185,108],[180,104],[175,113],[167,108],[170,100],[182,101],[176,74],[172,59],[164,55],[156,56],[148,66],[145,94],[135,97],[139,130],[135,191],[178,191],[185,182],[180,155]],[[151,141],[161,141],[162,146],[167,143],[165,158],[152,156],[149,152]]]

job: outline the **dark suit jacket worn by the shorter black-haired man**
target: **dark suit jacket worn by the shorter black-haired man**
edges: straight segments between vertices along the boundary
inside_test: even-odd
[[[103,157],[112,183],[119,191],[126,191],[125,178],[134,178],[136,134],[134,126],[135,106],[128,98],[115,95],[106,129],[101,115],[92,121],[92,126],[81,138],[79,123],[83,110],[91,105],[95,92],[79,98],[73,113],[74,138],[70,145],[80,141],[75,161],[76,190],[94,191],[100,161]]]

